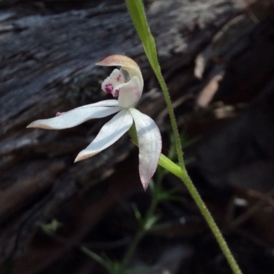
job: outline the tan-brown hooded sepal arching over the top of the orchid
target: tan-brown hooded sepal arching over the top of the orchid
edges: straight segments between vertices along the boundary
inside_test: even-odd
[[[131,78],[134,76],[138,77],[141,90],[144,88],[144,80],[142,79],[140,67],[132,58],[124,55],[110,55],[96,64],[99,66],[121,66],[122,69],[129,73]]]

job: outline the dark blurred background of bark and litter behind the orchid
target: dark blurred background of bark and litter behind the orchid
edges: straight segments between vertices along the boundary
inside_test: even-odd
[[[243,273],[273,273],[274,1],[147,0],[145,8],[190,177]],[[143,191],[127,134],[73,163],[109,118],[25,128],[108,99],[101,82],[113,68],[95,63],[111,54],[140,65],[137,108],[173,158],[162,92],[122,0],[0,0],[0,272],[108,273],[94,254],[112,270],[123,261],[157,190],[166,198],[127,269],[231,273],[179,179],[159,170]]]

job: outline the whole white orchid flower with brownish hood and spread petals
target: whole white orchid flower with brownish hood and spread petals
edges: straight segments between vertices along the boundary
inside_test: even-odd
[[[83,105],[68,112],[58,112],[54,118],[37,120],[27,127],[66,129],[90,119],[118,112],[108,123],[103,125],[90,145],[77,155],[75,162],[85,160],[110,147],[135,123],[139,147],[139,173],[142,186],[146,189],[158,165],[162,139],[155,122],[134,108],[142,95],[144,86],[142,73],[134,60],[123,55],[111,55],[98,62],[97,65],[121,66],[120,70],[114,69],[102,83],[103,91],[118,97],[118,100],[110,99]]]

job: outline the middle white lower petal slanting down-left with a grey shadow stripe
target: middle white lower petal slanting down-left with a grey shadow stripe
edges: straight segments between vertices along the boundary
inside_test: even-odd
[[[132,126],[132,114],[128,110],[121,110],[108,123],[103,125],[95,139],[82,150],[76,157],[75,162],[85,160],[110,147],[116,140],[121,138]]]

